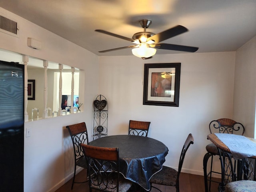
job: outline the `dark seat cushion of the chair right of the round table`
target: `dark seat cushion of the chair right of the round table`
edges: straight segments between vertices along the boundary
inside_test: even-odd
[[[178,171],[173,168],[163,166],[162,170],[152,176],[152,178],[150,179],[150,183],[176,186],[177,176]]]

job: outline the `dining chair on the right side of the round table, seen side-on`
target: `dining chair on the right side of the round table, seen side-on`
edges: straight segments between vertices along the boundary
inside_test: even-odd
[[[182,147],[181,154],[180,154],[180,161],[178,166],[178,171],[176,171],[173,168],[163,166],[162,170],[157,172],[152,176],[152,178],[149,180],[151,184],[151,188],[156,188],[155,186],[152,186],[152,184],[159,184],[159,185],[166,185],[166,186],[175,186],[176,192],[180,191],[180,185],[179,185],[179,178],[180,178],[180,172],[182,168],[182,164],[185,158],[185,154],[190,146],[190,144],[194,144],[194,137],[190,133]],[[160,189],[156,188],[161,192]]]

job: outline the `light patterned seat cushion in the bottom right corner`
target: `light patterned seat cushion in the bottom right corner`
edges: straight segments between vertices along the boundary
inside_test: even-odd
[[[226,184],[225,192],[256,192],[256,181],[240,180]]]

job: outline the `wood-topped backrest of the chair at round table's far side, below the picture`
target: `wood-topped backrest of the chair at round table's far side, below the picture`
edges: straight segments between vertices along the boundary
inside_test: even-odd
[[[149,126],[150,122],[130,120],[128,134],[147,137]]]

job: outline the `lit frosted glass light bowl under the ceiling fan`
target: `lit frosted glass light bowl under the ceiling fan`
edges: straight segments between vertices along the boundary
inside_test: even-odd
[[[132,54],[142,59],[145,59],[156,54],[156,49],[149,47],[146,43],[141,43],[140,47],[132,49]]]

